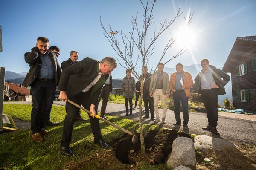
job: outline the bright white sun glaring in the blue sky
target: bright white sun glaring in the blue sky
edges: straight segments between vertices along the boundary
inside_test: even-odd
[[[191,48],[192,44],[195,44],[196,35],[192,29],[185,28],[178,33],[177,44],[185,48]]]

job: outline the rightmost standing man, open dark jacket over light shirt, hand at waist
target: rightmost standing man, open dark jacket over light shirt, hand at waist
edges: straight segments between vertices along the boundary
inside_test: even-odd
[[[208,59],[201,61],[202,71],[195,78],[195,84],[198,85],[198,94],[206,109],[208,126],[203,130],[211,130],[215,135],[220,135],[217,131],[218,121],[218,95],[226,94],[224,86],[230,80],[227,73],[216,69],[215,66],[209,65]]]

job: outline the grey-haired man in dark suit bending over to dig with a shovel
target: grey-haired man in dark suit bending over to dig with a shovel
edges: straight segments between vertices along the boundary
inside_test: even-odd
[[[108,144],[102,138],[99,127],[99,119],[95,118],[97,113],[96,104],[102,91],[103,84],[109,74],[117,66],[113,57],[105,57],[102,61],[96,61],[92,58],[84,58],[82,61],[68,66],[61,73],[61,79],[58,85],[60,90],[59,99],[67,102],[67,99],[80,104],[87,110],[90,110],[90,124],[94,136],[94,143],[103,148],[109,148]],[[66,103],[66,112],[63,133],[61,139],[61,153],[72,156],[73,152],[69,147],[73,125],[76,120],[76,106]]]

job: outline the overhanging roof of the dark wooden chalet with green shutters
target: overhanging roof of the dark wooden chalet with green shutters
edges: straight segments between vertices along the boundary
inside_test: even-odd
[[[251,55],[256,53],[256,35],[247,37],[237,37],[236,41],[227,57],[222,71],[233,72],[234,67],[241,62],[241,55]]]

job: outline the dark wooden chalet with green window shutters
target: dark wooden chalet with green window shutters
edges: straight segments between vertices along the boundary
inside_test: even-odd
[[[222,70],[231,73],[233,106],[256,113],[256,36],[237,37]]]

